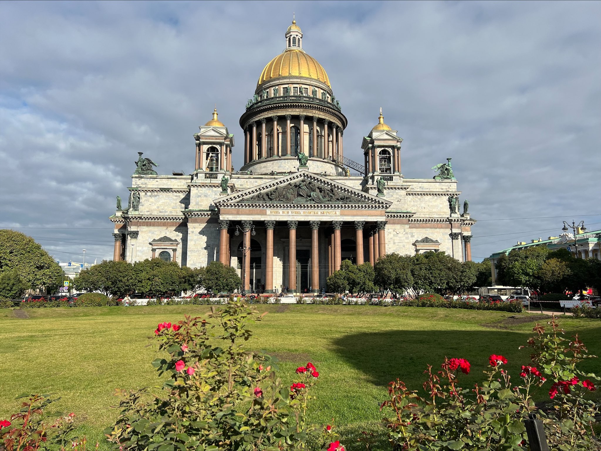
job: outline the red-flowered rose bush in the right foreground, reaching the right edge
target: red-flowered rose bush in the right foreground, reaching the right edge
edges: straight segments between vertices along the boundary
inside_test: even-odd
[[[469,362],[463,358],[445,358],[441,370],[424,372],[426,396],[408,390],[398,380],[389,384],[390,398],[382,403],[386,411],[385,425],[393,450],[528,450],[523,422],[536,412],[544,417],[551,449],[601,449],[591,425],[599,408],[585,399],[596,390],[594,373],[583,373],[576,365],[588,355],[578,339],[565,339],[555,318],[545,328],[534,328],[537,336],[528,340],[534,352],[535,366],[522,366],[516,384],[503,368],[507,358],[492,354],[486,379],[471,390],[459,384],[460,373],[469,373]],[[522,346],[523,347],[523,346]],[[547,377],[545,377],[547,376]],[[540,411],[532,400],[532,390],[551,382],[549,398],[553,413]]]

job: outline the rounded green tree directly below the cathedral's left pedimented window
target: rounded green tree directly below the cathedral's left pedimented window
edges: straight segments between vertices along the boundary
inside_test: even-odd
[[[135,289],[144,296],[177,296],[182,291],[182,269],[175,262],[146,259],[133,264]]]

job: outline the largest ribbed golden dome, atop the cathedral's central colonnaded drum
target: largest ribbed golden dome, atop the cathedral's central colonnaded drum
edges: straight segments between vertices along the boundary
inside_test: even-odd
[[[274,78],[290,76],[312,78],[330,87],[330,79],[322,65],[298,48],[288,48],[283,54],[269,61],[261,72],[257,86]]]

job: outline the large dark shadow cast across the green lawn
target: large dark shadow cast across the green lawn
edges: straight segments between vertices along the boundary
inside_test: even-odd
[[[462,385],[469,387],[482,378],[490,354],[509,359],[509,369],[529,364],[525,345],[531,333],[514,331],[389,330],[349,334],[334,340],[335,351],[374,385],[387,385],[399,378],[413,389],[421,388],[427,364],[438,370],[444,357],[467,358],[472,364]]]

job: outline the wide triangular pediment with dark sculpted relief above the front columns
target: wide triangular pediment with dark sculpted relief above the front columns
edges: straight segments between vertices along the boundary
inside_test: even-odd
[[[218,207],[285,206],[301,209],[388,209],[392,202],[308,171],[281,177],[223,197]]]

